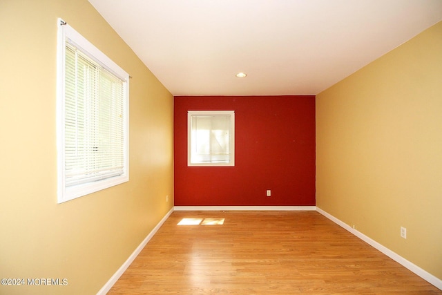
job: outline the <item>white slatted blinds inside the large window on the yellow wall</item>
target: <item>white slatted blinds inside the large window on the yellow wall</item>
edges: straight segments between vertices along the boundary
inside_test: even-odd
[[[124,81],[66,44],[66,186],[124,173]]]

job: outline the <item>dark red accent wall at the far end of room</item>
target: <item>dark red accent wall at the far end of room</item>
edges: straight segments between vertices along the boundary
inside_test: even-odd
[[[187,166],[187,111],[235,111],[235,166]],[[175,206],[315,205],[315,96],[174,97]],[[271,189],[271,197],[266,190]]]

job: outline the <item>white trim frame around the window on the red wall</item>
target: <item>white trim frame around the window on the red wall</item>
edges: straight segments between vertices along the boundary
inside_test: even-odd
[[[193,115],[231,115],[230,117],[230,151],[231,157],[230,162],[227,163],[217,163],[217,162],[207,162],[207,163],[193,163],[191,162],[191,131],[192,131],[192,121],[191,117]],[[187,112],[187,166],[235,166],[235,111],[188,111]]]

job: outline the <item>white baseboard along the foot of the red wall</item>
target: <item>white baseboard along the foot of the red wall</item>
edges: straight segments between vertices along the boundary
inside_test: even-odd
[[[175,211],[316,211],[316,206],[175,206]]]

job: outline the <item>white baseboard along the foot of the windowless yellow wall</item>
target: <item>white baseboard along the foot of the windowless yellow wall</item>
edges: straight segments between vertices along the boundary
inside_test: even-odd
[[[392,251],[392,250],[388,249],[387,247],[379,244],[378,242],[376,242],[372,238],[369,238],[369,237],[365,236],[365,234],[362,234],[361,231],[357,231],[356,229],[353,229],[352,227],[347,225],[345,222],[343,222],[343,221],[339,220],[338,218],[332,216],[331,214],[323,211],[322,209],[316,207],[316,211],[318,211],[318,213],[322,214],[323,216],[329,218],[329,220],[332,220],[337,225],[340,225],[340,227],[343,227],[344,229],[346,229],[350,233],[354,234],[355,236],[357,236],[358,238],[360,238],[364,242],[367,242],[367,244],[369,244],[372,247],[378,249],[383,254],[387,255],[390,258],[392,258],[397,263],[400,263],[401,265],[403,265],[403,267],[405,267],[407,269],[410,269],[410,271],[414,272],[414,274],[417,274],[418,276],[420,276],[421,278],[426,280],[428,283],[430,283],[430,284],[434,285],[435,287],[437,287],[437,288],[442,290],[442,280],[441,279],[436,278],[436,276],[433,276],[429,272],[426,272],[424,269],[421,269],[421,267],[415,265],[414,263],[411,263],[407,259],[405,259],[402,256],[396,254],[394,251]]]

